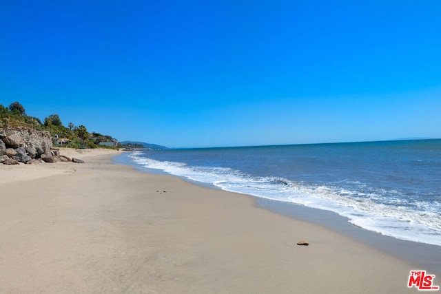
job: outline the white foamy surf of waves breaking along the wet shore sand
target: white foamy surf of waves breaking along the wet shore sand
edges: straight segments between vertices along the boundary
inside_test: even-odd
[[[357,227],[394,238],[441,246],[441,204],[419,201],[414,209],[403,198],[384,198],[381,189],[351,191],[338,186],[307,186],[283,178],[252,177],[223,167],[189,167],[182,162],[158,161],[134,152],[130,157],[148,169],[212,184],[225,191],[291,202],[334,211]],[[361,183],[357,183],[360,184]],[[389,191],[390,193],[391,191]]]

